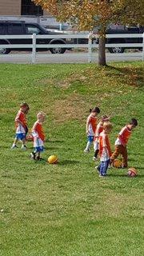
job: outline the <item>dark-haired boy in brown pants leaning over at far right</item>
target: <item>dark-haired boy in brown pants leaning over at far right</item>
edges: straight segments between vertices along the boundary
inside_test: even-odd
[[[111,156],[111,162],[114,162],[115,158],[118,158],[119,154],[122,154],[122,168],[127,167],[127,142],[130,138],[132,130],[138,126],[138,121],[135,118],[131,118],[129,124],[124,126],[120,133],[118,134],[118,138],[115,141],[115,150]]]

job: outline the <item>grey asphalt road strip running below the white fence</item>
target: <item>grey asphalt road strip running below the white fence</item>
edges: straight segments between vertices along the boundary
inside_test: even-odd
[[[36,54],[36,63],[86,63],[87,53],[65,53],[65,54]],[[124,54],[106,54],[107,62],[127,62],[142,60],[142,52]],[[31,63],[31,54],[18,53],[0,55],[0,63]],[[98,62],[98,54],[91,56],[91,62]]]

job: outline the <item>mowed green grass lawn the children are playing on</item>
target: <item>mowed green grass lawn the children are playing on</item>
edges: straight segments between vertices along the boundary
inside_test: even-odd
[[[144,255],[144,65],[0,65],[0,255]],[[46,112],[46,151],[58,165],[33,162],[28,150],[10,150],[19,104],[30,104],[29,127]],[[86,146],[86,118],[93,106],[110,114],[110,141],[130,120],[138,127],[127,170],[99,178]]]

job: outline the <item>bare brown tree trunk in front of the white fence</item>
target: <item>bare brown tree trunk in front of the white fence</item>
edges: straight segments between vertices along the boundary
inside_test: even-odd
[[[106,66],[106,35],[101,35],[99,37],[99,47],[98,47],[98,64]]]

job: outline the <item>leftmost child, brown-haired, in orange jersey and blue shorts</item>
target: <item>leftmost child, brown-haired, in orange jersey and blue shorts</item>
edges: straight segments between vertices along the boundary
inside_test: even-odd
[[[15,126],[16,126],[16,135],[14,138],[14,143],[11,146],[11,149],[14,150],[18,148],[17,142],[20,140],[22,142],[22,150],[26,150],[26,134],[28,132],[27,122],[26,122],[26,114],[30,110],[29,105],[26,102],[23,102],[20,105],[20,110],[15,118]]]

